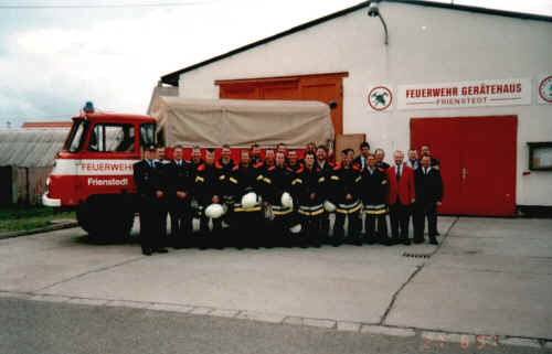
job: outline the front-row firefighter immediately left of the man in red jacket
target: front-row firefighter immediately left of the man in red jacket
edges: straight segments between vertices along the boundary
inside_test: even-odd
[[[385,245],[389,242],[385,221],[385,213],[388,212],[388,205],[385,204],[388,178],[385,172],[375,167],[375,157],[372,153],[368,154],[367,167],[362,170],[360,190],[362,203],[364,204],[367,242],[370,245],[374,243]]]

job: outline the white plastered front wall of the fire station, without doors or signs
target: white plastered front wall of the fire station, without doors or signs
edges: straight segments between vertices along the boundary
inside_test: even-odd
[[[219,97],[215,79],[348,72],[343,130],[365,132],[373,148],[410,147],[412,117],[517,115],[517,204],[552,205],[552,172],[531,172],[528,141],[552,140],[552,105],[537,104],[537,78],[552,73],[552,23],[403,3],[380,4],[389,26],[367,9],[184,73],[180,96]],[[423,28],[425,26],[425,28]],[[370,109],[369,87],[531,77],[532,104],[383,112]],[[395,92],[396,93],[396,92]],[[438,157],[438,151],[435,151]]]

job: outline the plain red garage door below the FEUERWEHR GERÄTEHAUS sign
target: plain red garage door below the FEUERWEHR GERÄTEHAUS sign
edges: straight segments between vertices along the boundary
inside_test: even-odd
[[[440,214],[516,213],[517,131],[517,116],[411,119],[411,144],[442,164]]]

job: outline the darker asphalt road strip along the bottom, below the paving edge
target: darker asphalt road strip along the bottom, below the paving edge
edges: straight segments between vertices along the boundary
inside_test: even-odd
[[[0,299],[2,354],[538,354],[544,348],[354,333],[125,307]]]

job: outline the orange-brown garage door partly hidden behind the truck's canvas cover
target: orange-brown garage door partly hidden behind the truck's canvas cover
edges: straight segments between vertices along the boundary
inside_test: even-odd
[[[216,81],[220,98],[319,100],[338,104],[331,110],[336,133],[343,132],[343,85],[347,73]]]

